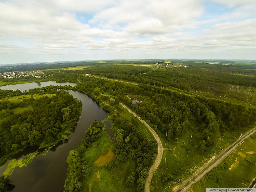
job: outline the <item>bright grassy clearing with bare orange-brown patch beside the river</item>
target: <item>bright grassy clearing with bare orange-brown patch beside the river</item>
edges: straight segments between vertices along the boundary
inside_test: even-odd
[[[94,162],[101,155],[105,155],[111,150],[111,140],[106,131],[102,131],[100,135],[101,139],[94,142],[84,153],[84,158],[92,168],[92,173],[84,179],[82,191],[136,191],[135,188],[129,188],[123,184],[127,174],[136,171],[135,162],[133,160],[119,163],[114,158],[113,162],[115,163],[115,167],[110,170],[106,169],[104,166],[97,167],[94,165]],[[116,186],[118,186],[118,188]]]

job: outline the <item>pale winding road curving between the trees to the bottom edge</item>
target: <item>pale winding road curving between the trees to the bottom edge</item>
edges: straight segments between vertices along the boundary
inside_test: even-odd
[[[104,95],[102,93],[100,93],[101,95]],[[105,95],[106,96],[106,95]],[[114,100],[112,98],[110,98],[111,100]],[[161,160],[162,160],[162,156],[163,156],[163,145],[162,142],[160,140],[160,138],[158,137],[158,135],[156,134],[156,132],[151,128],[151,126],[149,126],[145,121],[143,121],[138,115],[136,115],[132,110],[130,110],[128,107],[126,107],[123,103],[119,103],[120,105],[122,105],[127,111],[129,111],[131,114],[133,114],[138,120],[140,120],[144,125],[146,125],[146,127],[151,131],[151,133],[154,135],[157,145],[158,145],[158,153],[157,153],[157,157],[156,160],[154,162],[154,164],[151,166],[149,172],[148,172],[148,177],[146,179],[146,183],[145,183],[145,192],[150,192],[150,184],[151,184],[151,180],[153,177],[153,173],[155,172],[155,170],[157,169],[158,165],[160,164]]]

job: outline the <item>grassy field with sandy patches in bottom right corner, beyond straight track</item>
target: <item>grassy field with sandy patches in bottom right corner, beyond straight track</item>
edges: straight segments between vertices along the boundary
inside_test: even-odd
[[[249,187],[256,177],[256,134],[246,139],[222,163],[190,187],[189,192],[204,192],[208,187]],[[243,185],[244,184],[244,185]]]

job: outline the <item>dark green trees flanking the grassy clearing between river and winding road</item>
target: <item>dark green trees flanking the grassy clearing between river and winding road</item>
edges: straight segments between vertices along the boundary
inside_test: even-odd
[[[135,123],[135,122],[134,122]],[[129,173],[125,181],[125,185],[137,187],[137,191],[144,191],[145,180],[148,175],[148,169],[156,158],[156,143],[148,141],[148,139],[137,132],[136,123],[128,123],[126,119],[114,120],[114,125],[121,127],[115,134],[114,153],[117,161],[126,162],[129,158],[136,162],[136,173]],[[92,174],[91,166],[84,159],[84,153],[92,146],[93,142],[100,139],[102,130],[101,123],[94,121],[88,130],[84,133],[82,144],[75,150],[72,150],[68,156],[67,162],[68,176],[65,181],[64,191],[81,191],[83,180]],[[112,169],[114,163],[111,162],[105,166],[105,169]]]

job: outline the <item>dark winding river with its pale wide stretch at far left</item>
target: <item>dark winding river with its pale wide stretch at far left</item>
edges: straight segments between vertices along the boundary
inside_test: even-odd
[[[2,86],[0,89],[19,89],[25,91],[37,87],[45,87],[49,85],[76,85],[75,83],[56,83],[54,81],[37,83],[17,84],[10,86]],[[109,116],[109,113],[103,110],[92,98],[86,94],[68,90],[70,94],[82,102],[82,113],[74,131],[70,134],[69,140],[62,140],[53,147],[45,155],[37,155],[25,167],[16,167],[9,178],[13,180],[15,185],[14,192],[61,192],[63,191],[64,182],[67,176],[68,164],[66,162],[69,152],[81,144],[84,137],[84,132],[89,128],[94,120],[102,121]],[[108,134],[112,137],[113,131],[110,129],[110,124],[105,126]],[[35,151],[36,148],[28,148],[18,154],[16,159],[23,158],[25,155]],[[8,161],[9,162],[9,161]],[[0,167],[0,175],[5,170],[7,164]]]

